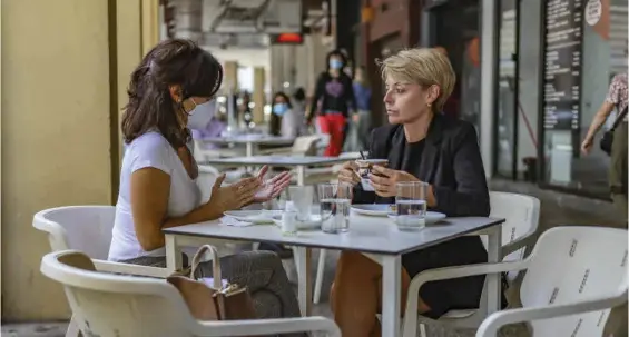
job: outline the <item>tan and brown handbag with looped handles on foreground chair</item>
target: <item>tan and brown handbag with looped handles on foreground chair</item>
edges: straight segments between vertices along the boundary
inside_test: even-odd
[[[206,285],[203,279],[195,279],[205,252],[212,256],[213,278],[212,286]],[[204,245],[195,254],[189,275],[176,274],[167,278],[175,286],[186,301],[191,315],[199,320],[232,320],[255,319],[255,308],[246,287],[236,284],[223,285],[220,264],[216,248]]]

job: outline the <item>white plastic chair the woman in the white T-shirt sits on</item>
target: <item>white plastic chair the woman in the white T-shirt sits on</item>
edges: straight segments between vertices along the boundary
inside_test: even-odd
[[[107,260],[115,218],[114,206],[67,206],[37,212],[32,226],[48,234],[52,251],[85,251],[100,271],[167,277],[166,268]]]

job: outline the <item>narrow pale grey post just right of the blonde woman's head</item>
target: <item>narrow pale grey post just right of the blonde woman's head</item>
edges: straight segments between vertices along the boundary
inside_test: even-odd
[[[493,111],[494,88],[497,82],[497,73],[493,65],[498,62],[498,50],[495,48],[495,1],[481,1],[481,116],[480,116],[480,146],[485,176],[492,175],[493,167]]]

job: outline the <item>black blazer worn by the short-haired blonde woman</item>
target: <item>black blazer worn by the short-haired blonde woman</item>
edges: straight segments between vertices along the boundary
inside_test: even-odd
[[[400,170],[404,156],[404,129],[387,125],[372,131],[370,158],[389,159]],[[433,186],[436,206],[432,210],[450,217],[480,216],[490,212],[489,191],[476,130],[466,121],[435,113],[425,138],[420,163],[420,180]],[[377,197],[354,188],[354,204],[394,204],[394,198]]]

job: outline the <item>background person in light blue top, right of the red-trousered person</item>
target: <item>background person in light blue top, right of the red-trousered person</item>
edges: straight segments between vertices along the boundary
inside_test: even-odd
[[[368,137],[371,129],[371,97],[372,89],[370,88],[368,80],[365,77],[365,68],[356,68],[356,76],[354,77],[354,96],[356,97],[357,113],[354,113],[354,122],[356,123],[356,133],[358,140],[358,148],[366,150],[368,146]]]

